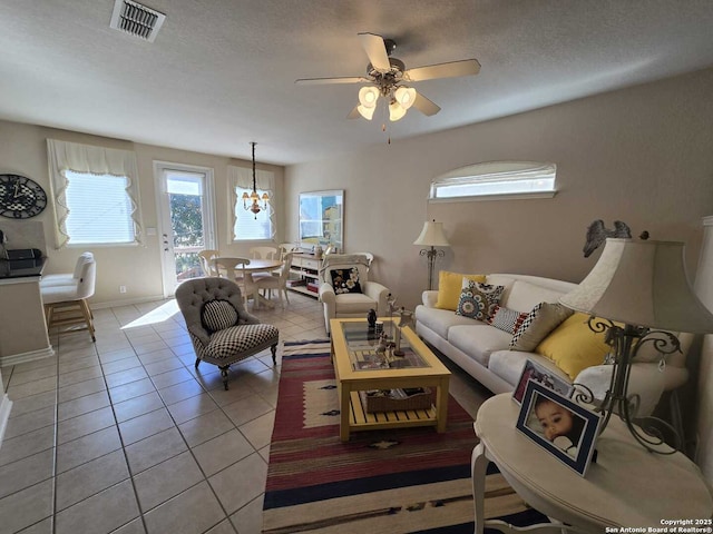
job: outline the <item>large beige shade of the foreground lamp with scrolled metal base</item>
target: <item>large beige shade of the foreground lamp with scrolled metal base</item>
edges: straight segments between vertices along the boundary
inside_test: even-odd
[[[592,271],[559,301],[629,325],[713,333],[713,315],[688,284],[683,249],[683,243],[609,238]]]

